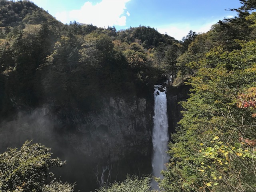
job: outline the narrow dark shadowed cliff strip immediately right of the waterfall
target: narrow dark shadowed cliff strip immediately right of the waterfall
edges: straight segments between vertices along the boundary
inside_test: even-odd
[[[180,85],[178,87],[169,87],[167,91],[167,111],[168,111],[168,123],[169,133],[174,133],[177,123],[181,120],[184,110],[181,104],[178,102],[186,101],[189,98],[190,86]]]

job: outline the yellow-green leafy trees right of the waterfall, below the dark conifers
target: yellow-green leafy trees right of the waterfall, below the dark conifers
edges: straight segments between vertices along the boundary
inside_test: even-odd
[[[182,103],[186,111],[168,151],[171,162],[160,181],[166,191],[250,192],[256,187],[251,145],[256,121],[251,110],[236,106],[238,95],[256,86],[256,42],[238,43],[241,50],[216,47],[197,62],[196,76],[187,83],[192,93]]]

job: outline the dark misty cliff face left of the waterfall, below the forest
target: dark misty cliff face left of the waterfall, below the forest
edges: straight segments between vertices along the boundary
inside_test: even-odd
[[[98,113],[54,113],[49,107],[20,112],[0,125],[0,152],[31,139],[52,147],[54,156],[67,160],[53,172],[64,181],[76,181],[82,191],[123,180],[126,174],[150,174],[153,107],[153,96],[134,96],[105,100]]]

